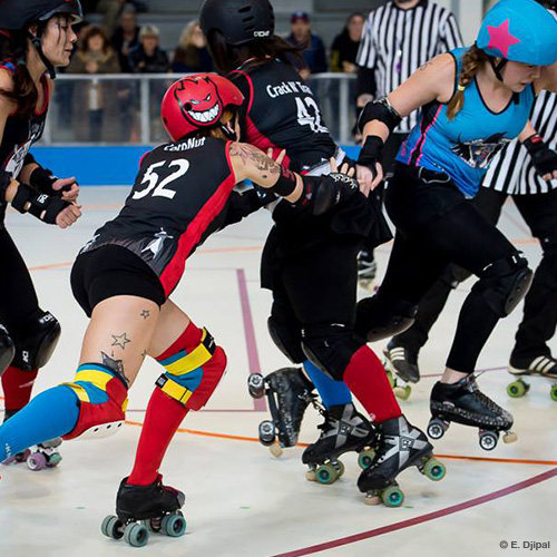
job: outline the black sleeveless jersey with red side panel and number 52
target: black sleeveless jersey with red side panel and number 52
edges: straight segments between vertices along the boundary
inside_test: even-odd
[[[235,182],[229,141],[204,137],[157,147],[141,159],[119,215],[80,253],[109,244],[126,247],[150,266],[169,295],[188,256],[224,226]]]

